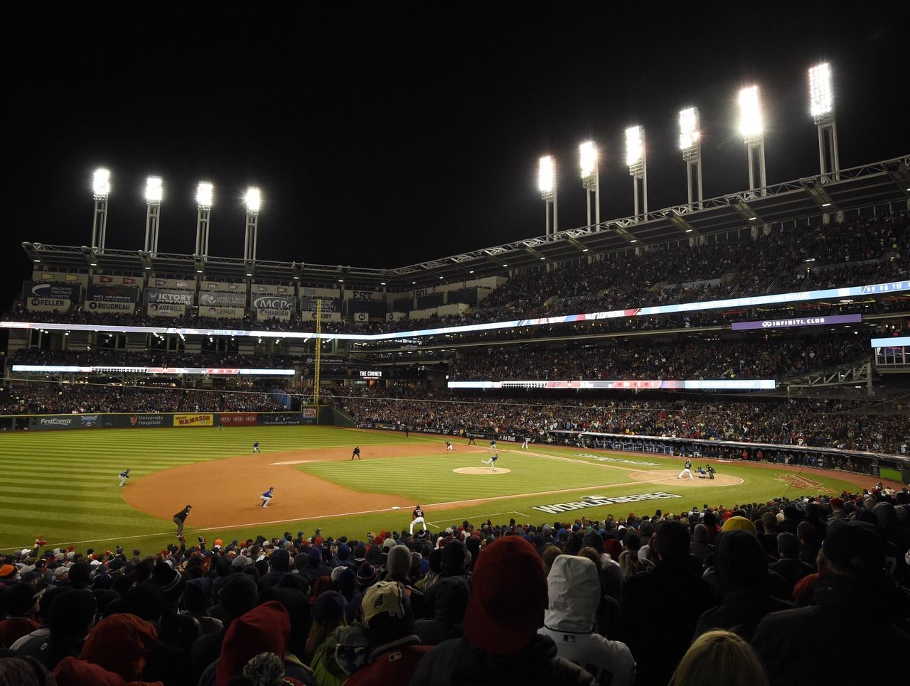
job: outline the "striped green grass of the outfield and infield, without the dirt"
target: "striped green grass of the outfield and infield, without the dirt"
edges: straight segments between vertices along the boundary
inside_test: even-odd
[[[495,477],[452,473],[458,467],[483,466],[486,452],[464,452],[461,445],[454,453],[441,450],[441,442],[425,436],[406,439],[394,432],[357,432],[322,426],[232,427],[225,432],[213,428],[175,429],[110,429],[59,432],[5,432],[0,434],[0,550],[29,547],[35,535],[41,534],[53,545],[76,543],[87,547],[110,548],[117,544],[138,547],[144,552],[157,550],[173,542],[173,525],[168,520],[136,512],[124,502],[117,488],[116,475],[129,467],[136,478],[190,462],[218,460],[248,454],[253,441],[260,441],[264,452],[301,448],[349,447],[407,443],[427,445],[423,456],[381,458],[356,462],[308,462],[298,465],[330,482],[360,492],[398,495],[427,508],[427,520],[449,525],[462,519],[505,522],[511,517],[520,521],[545,522],[574,520],[580,511],[547,514],[533,506],[574,502],[581,495],[614,497],[643,492],[666,491],[682,498],[656,502],[605,505],[586,509],[588,517],[602,518],[607,513],[625,516],[628,512],[653,512],[655,508],[680,512],[711,504],[761,501],[778,495],[795,495],[798,491],[775,480],[775,470],[755,468],[741,463],[718,465],[719,472],[743,478],[738,486],[694,489],[684,482],[672,487],[633,482],[630,470],[678,470],[678,459],[651,455],[598,452],[624,460],[652,462],[654,466],[635,466],[606,462],[602,466],[590,457],[553,448],[535,447],[530,452],[518,446],[501,445],[497,466],[510,469]],[[432,445],[433,447],[430,447]],[[585,453],[591,453],[586,451]],[[561,458],[561,459],[550,459]],[[567,459],[568,458],[568,459]],[[824,487],[840,492],[850,489],[849,482],[821,477],[813,471],[804,475]],[[200,484],[205,487],[205,484]],[[558,492],[581,489],[576,492]],[[509,497],[502,497],[509,496]],[[458,503],[471,499],[495,498],[472,505]],[[440,504],[434,504],[440,503]],[[347,512],[339,502],[338,512]],[[410,511],[385,511],[348,517],[330,517],[282,522],[270,526],[203,532],[211,541],[216,537],[255,537],[259,533],[272,537],[285,531],[312,532],[321,527],[332,535],[362,537],[365,532],[402,529],[410,523]],[[187,534],[197,530],[187,527]]]

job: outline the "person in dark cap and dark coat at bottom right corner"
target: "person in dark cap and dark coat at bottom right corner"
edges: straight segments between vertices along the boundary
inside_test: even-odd
[[[814,604],[772,612],[755,630],[752,647],[768,681],[774,686],[856,681],[868,674],[870,655],[907,655],[910,638],[895,626],[903,612],[895,611],[887,581],[885,547],[875,531],[860,522],[831,524],[818,553]],[[876,609],[875,626],[852,632],[848,649],[830,652],[843,644],[844,621],[867,617],[870,608]],[[821,659],[806,659],[812,655]],[[876,660],[875,681],[903,683],[905,661]]]

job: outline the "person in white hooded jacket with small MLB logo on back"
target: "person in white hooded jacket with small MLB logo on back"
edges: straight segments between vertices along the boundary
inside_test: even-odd
[[[629,648],[593,633],[601,601],[597,565],[584,557],[560,555],[553,561],[547,584],[550,606],[539,632],[555,641],[560,657],[590,671],[597,683],[633,686],[635,661]]]

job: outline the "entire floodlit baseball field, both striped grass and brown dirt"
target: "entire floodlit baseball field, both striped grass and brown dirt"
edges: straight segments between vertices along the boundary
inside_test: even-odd
[[[681,458],[499,446],[441,437],[324,426],[258,426],[0,434],[0,549],[48,546],[143,552],[176,542],[175,512],[193,505],[197,536],[268,538],[284,532],[362,538],[407,529],[420,503],[433,528],[472,522],[574,521],[693,505],[732,505],[779,495],[841,492],[873,479],[781,465],[711,462],[714,480],[678,479]],[[253,455],[253,442],[262,453]],[[351,460],[359,445],[362,460]],[[695,466],[707,464],[696,460]],[[130,469],[126,486],[117,474]],[[275,487],[270,507],[259,495]],[[647,497],[643,499],[642,495]],[[637,498],[634,496],[638,496]]]

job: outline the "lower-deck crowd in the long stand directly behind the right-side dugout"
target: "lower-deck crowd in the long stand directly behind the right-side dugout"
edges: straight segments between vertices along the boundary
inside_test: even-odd
[[[572,394],[344,388],[334,402],[359,423],[438,432],[542,437],[551,431],[627,433],[715,441],[816,446],[900,454],[910,415],[875,414],[842,400],[708,397],[703,400],[581,399]],[[905,450],[904,450],[905,452]]]

